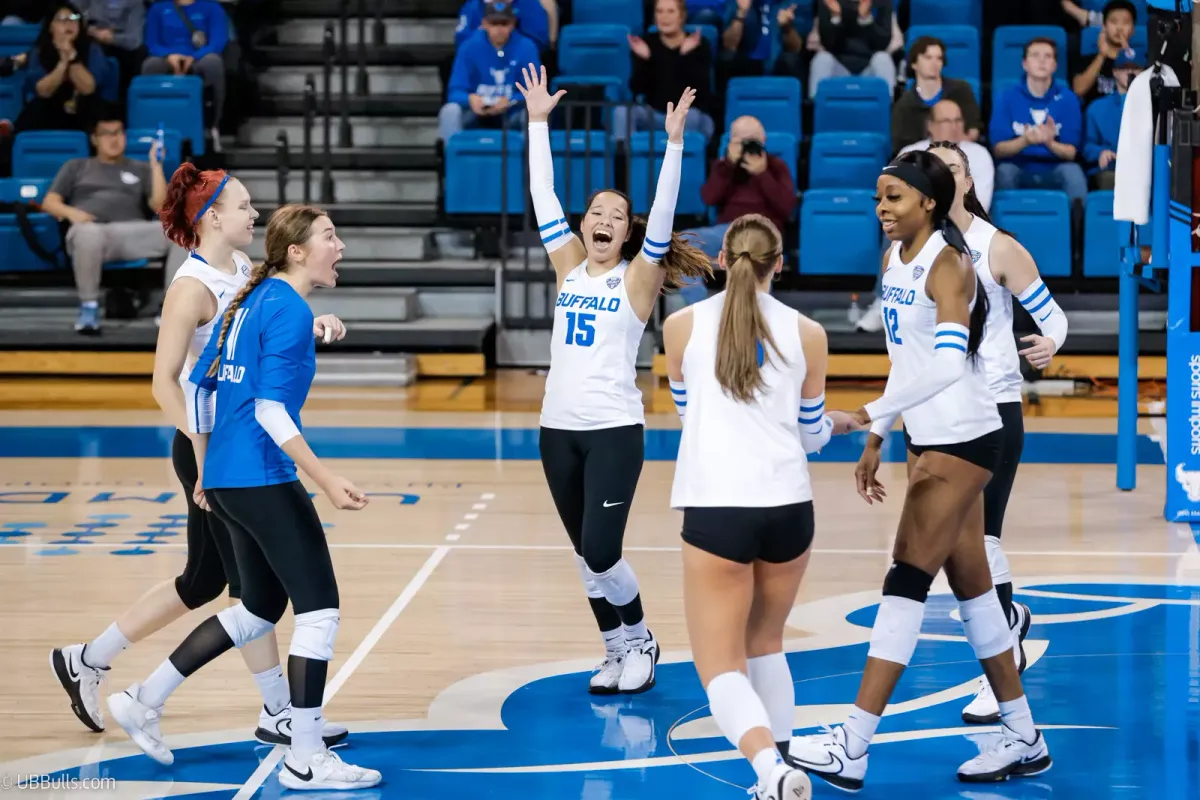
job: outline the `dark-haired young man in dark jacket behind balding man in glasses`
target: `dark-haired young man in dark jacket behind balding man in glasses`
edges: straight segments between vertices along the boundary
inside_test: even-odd
[[[913,80],[892,109],[893,150],[904,150],[924,137],[932,108],[943,100],[954,104],[959,122],[966,126],[964,133],[966,140],[979,140],[983,114],[979,113],[974,91],[966,80],[943,78],[944,66],[946,43],[942,40],[919,36],[908,48],[908,68],[912,71]],[[948,139],[948,137],[935,136],[934,139]],[[960,142],[960,139],[952,140]]]

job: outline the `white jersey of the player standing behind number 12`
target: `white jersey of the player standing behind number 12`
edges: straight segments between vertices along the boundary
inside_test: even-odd
[[[1013,338],[1013,295],[991,273],[991,240],[996,227],[974,217],[962,234],[971,248],[971,260],[988,291],[988,326],[984,329],[979,357],[983,360],[988,389],[997,403],[1021,402],[1021,360]]]

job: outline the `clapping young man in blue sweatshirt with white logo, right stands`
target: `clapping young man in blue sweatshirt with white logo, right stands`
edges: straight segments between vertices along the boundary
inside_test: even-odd
[[[1084,140],[1079,97],[1054,73],[1058,48],[1037,37],[1025,46],[1025,80],[1007,89],[991,113],[989,138],[996,188],[1060,188],[1073,201],[1087,197],[1087,178],[1075,163]]]

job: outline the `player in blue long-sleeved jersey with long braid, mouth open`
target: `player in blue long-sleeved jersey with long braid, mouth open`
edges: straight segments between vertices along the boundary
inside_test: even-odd
[[[220,386],[198,494],[229,529],[241,602],[200,622],[145,684],[108,698],[113,717],[162,764],[174,760],[158,727],[167,697],[230,648],[270,633],[290,601],[292,742],[280,783],[355,789],[380,780],[374,770],[343,763],[322,741],[340,601],[325,533],[296,477],[299,464],[336,509],[366,506],[354,485],[317,459],[299,427],[317,363],[305,297],[336,284],[343,248],[319,209],[276,211],[266,225],[266,261],[234,296],[191,372],[202,392]]]

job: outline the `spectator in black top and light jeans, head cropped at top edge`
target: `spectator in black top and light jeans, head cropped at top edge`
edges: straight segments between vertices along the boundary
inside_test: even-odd
[[[896,65],[888,53],[892,43],[892,0],[818,0],[820,53],[809,68],[809,96],[817,85],[838,76],[874,76],[893,90]]]

